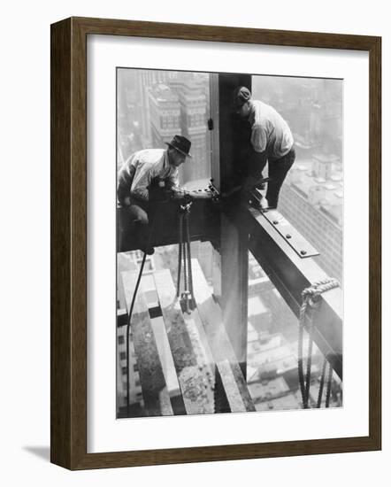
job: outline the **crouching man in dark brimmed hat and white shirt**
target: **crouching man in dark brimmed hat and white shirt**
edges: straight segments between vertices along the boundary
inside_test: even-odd
[[[146,149],[134,152],[119,169],[117,196],[119,200],[119,249],[126,231],[135,231],[142,251],[153,253],[149,244],[149,201],[154,183],[165,190],[180,190],[178,168],[189,153],[191,143],[174,135],[167,149]],[[157,188],[158,189],[158,188]]]

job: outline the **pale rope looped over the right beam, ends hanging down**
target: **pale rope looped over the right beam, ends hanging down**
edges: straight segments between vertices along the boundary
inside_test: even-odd
[[[306,288],[302,292],[303,303],[300,308],[300,319],[299,319],[299,339],[298,339],[298,375],[299,375],[299,385],[302,393],[303,408],[307,409],[309,407],[310,400],[310,385],[311,385],[311,366],[312,366],[312,348],[313,348],[313,329],[314,329],[314,314],[318,309],[320,295],[326,290],[332,290],[337,288],[340,283],[334,278],[325,278],[318,282],[315,282],[311,287]],[[306,320],[308,320],[308,326],[305,326]],[[308,343],[308,353],[307,353],[307,367],[306,376],[304,378],[303,370],[303,337],[304,329],[307,328],[309,334]],[[322,367],[322,376],[320,380],[320,388],[318,393],[318,403],[317,407],[321,405],[321,399],[323,394],[323,388],[325,383],[326,375],[326,358]],[[326,398],[326,407],[329,405],[331,381],[333,376],[333,368],[329,364],[329,376],[327,380],[327,392],[328,400]]]

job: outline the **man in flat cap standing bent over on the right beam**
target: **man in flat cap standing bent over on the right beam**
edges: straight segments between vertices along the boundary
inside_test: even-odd
[[[270,181],[266,199],[270,208],[277,208],[282,183],[295,162],[294,139],[288,123],[272,106],[254,100],[244,86],[234,90],[234,112],[247,120],[251,128],[242,193],[248,196],[257,186],[268,162]]]

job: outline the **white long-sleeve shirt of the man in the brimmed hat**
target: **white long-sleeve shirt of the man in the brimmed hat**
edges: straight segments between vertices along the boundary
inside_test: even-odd
[[[162,178],[168,187],[179,186],[178,168],[169,163],[165,149],[145,149],[134,152],[119,169],[119,203],[126,197],[148,201],[148,186],[154,178]]]

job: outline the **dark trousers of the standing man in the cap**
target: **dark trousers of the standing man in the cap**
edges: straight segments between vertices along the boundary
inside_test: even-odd
[[[295,157],[295,147],[292,147],[288,154],[282,158],[263,157],[259,158],[258,163],[257,161],[252,162],[253,170],[251,174],[258,179],[262,178],[262,171],[265,168],[266,161],[269,162],[270,181],[267,183],[266,199],[268,205],[272,208],[277,208],[282,183],[287,177],[289,169],[293,166]]]

